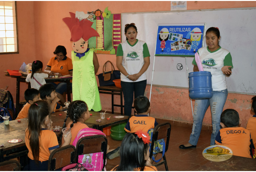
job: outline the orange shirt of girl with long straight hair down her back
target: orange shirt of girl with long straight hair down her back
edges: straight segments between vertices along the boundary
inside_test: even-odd
[[[29,129],[27,128],[25,131],[25,143],[27,148],[29,149],[28,157],[34,160],[31,148],[29,146],[29,138]],[[39,138],[39,145],[39,161],[47,161],[50,156],[50,150],[59,148],[56,134],[51,130],[42,128],[41,135]]]

